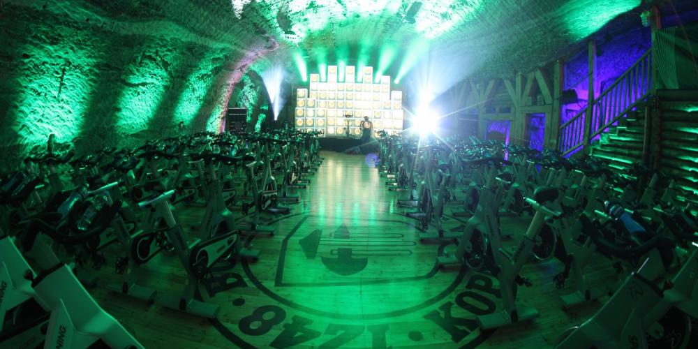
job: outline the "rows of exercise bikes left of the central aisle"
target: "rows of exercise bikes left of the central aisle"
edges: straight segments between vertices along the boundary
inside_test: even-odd
[[[143,348],[91,297],[102,267],[119,295],[216,318],[198,286],[216,263],[259,258],[249,237],[274,234],[265,212],[299,202],[319,150],[318,133],[277,130],[25,158],[0,178],[0,348]],[[205,207],[193,227],[186,207]],[[186,272],[176,295],[138,283],[161,254]]]

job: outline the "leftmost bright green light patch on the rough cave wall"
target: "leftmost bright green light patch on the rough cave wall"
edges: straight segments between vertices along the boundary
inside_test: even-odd
[[[67,31],[61,35],[84,34]],[[94,94],[96,81],[91,77],[99,74],[95,68],[96,57],[101,56],[99,51],[68,40],[59,40],[56,45],[22,47],[21,52],[29,58],[17,67],[18,99],[6,105],[6,127],[17,135],[13,142],[20,141],[29,150],[44,146],[51,133],[58,142],[71,142],[79,135]]]

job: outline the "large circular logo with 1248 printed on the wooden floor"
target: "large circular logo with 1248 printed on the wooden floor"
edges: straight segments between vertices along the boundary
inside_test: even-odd
[[[239,319],[216,323],[237,345],[474,346],[487,337],[475,316],[497,310],[496,280],[440,270],[436,257],[445,244],[419,242],[412,221],[313,214],[285,220],[286,226],[295,221],[287,234],[253,239],[262,251],[258,262],[243,263],[239,273],[216,274],[216,285],[207,287],[209,294],[257,288],[268,297],[235,298],[230,317]],[[230,307],[222,316],[225,309]],[[262,342],[259,336],[265,336]]]

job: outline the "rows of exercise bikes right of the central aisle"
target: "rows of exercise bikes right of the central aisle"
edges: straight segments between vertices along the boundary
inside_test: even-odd
[[[696,345],[698,207],[661,171],[636,164],[617,174],[593,157],[472,138],[383,134],[378,143],[376,167],[389,190],[404,193],[399,205],[413,209],[406,215],[417,220],[420,239],[455,245],[438,265],[498,279],[503,311],[477,316],[481,329],[540,316],[517,302],[517,289],[531,285],[521,269],[558,260],[551,283],[563,309],[607,300],[560,334],[557,348]],[[528,229],[501,230],[505,216],[530,216]],[[447,229],[454,219],[464,223]],[[613,285],[591,286],[598,269],[612,271]]]

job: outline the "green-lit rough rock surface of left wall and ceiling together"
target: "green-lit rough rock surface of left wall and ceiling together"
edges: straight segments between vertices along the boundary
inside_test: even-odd
[[[426,77],[421,86],[511,75],[564,58],[604,26],[636,27],[640,3],[4,1],[0,146],[43,144],[55,133],[96,147],[179,121],[214,130],[250,69],[281,66],[283,80],[302,83],[320,66],[373,66],[394,81]]]

